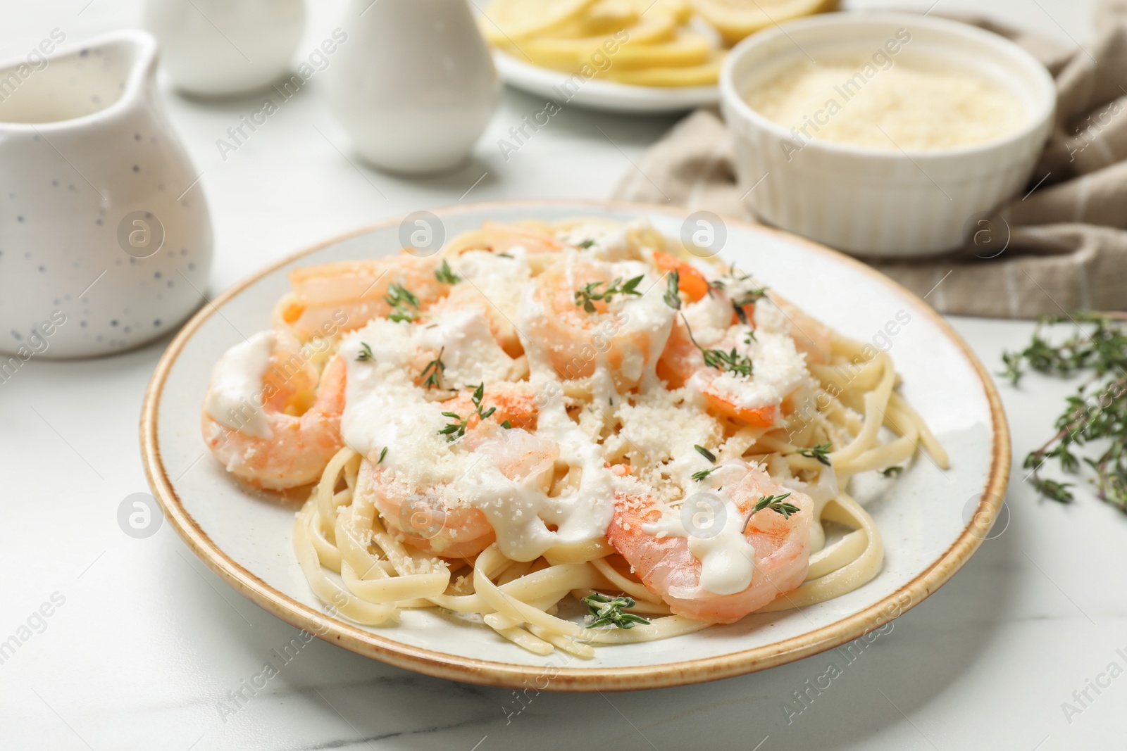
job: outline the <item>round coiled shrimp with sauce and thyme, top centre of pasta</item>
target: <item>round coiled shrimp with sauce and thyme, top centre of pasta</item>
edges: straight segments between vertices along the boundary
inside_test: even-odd
[[[644,278],[633,292],[618,293],[610,302],[598,297],[637,276]],[[523,333],[561,378],[586,378],[602,363],[615,388],[628,391],[654,367],[673,322],[673,309],[653,288],[655,283],[640,263],[566,256],[533,279],[522,301]],[[585,289],[595,295],[582,298]]]

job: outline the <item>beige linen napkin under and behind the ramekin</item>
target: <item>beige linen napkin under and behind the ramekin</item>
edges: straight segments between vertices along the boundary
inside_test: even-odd
[[[982,18],[1056,79],[1057,123],[1022,194],[978,223],[956,253],[872,260],[943,313],[1033,318],[1127,309],[1127,0],[1102,0],[1099,38],[1071,51]],[[745,216],[730,136],[713,109],[681,120],[619,185],[615,197]],[[1003,250],[1004,249],[1004,250]]]

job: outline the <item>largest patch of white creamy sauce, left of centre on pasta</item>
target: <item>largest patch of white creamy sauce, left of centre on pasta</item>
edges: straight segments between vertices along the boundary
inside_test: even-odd
[[[340,347],[348,367],[341,418],[345,442],[370,461],[388,447],[383,466],[410,488],[437,495],[451,509],[480,509],[502,553],[513,560],[534,560],[557,544],[602,539],[613,515],[612,475],[601,447],[568,417],[562,397],[543,400],[534,437],[516,428],[497,428],[495,445],[471,452],[464,438],[447,441],[440,435],[450,418],[442,415],[442,403],[426,400],[405,368],[419,347],[445,348],[449,385],[483,379],[488,402],[489,384],[505,379],[503,370],[512,359],[485,345],[492,339],[481,320],[479,311],[442,313],[431,325],[378,319],[349,334]],[[356,360],[361,342],[369,343],[371,360]],[[525,347],[535,350],[533,342]],[[535,369],[551,368],[536,363]],[[531,386],[544,383],[541,378]],[[577,488],[549,497],[543,476],[511,480],[503,474],[502,465],[520,462],[538,439],[541,446],[558,445],[559,461],[580,471]],[[557,529],[549,529],[549,524]]]

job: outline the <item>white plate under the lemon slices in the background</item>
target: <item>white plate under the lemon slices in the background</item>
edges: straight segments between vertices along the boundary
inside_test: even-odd
[[[609,113],[659,114],[680,113],[720,101],[719,86],[664,88],[588,80],[583,75],[532,65],[500,51],[494,51],[494,62],[505,83],[551,99],[561,107],[577,105]]]

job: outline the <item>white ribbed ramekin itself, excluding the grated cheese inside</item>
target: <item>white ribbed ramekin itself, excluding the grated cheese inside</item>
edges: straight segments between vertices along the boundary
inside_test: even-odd
[[[886,43],[905,33],[911,39],[893,44],[897,52],[888,55]],[[983,144],[905,152],[796,141],[744,100],[746,91],[802,60],[838,62],[878,51],[893,64],[949,62],[986,75],[1017,96],[1026,123]],[[858,256],[885,258],[961,247],[976,215],[1027,184],[1056,108],[1048,71],[1015,44],[966,24],[907,14],[825,14],[754,34],[728,53],[720,98],[742,202],[754,216]]]

